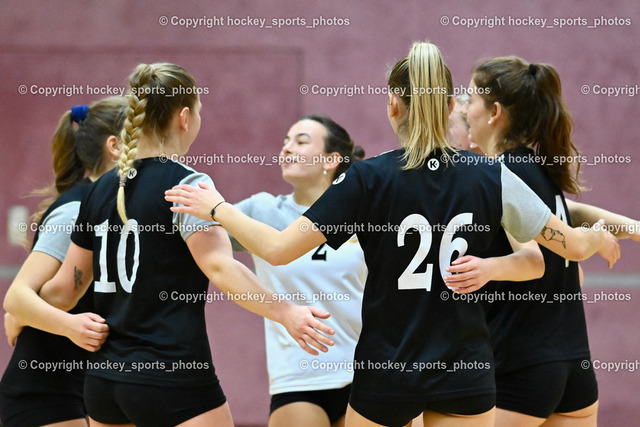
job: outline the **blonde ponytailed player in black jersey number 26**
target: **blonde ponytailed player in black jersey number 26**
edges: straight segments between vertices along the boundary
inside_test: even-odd
[[[443,276],[456,254],[495,254],[504,226],[571,259],[598,252],[613,264],[616,239],[574,230],[506,167],[455,164],[445,142],[451,75],[437,47],[414,44],[391,71],[387,112],[403,149],[353,165],[285,230],[252,220],[206,186],[178,186],[176,212],[215,217],[249,251],[284,264],[328,242],[350,238],[341,224],[362,224],[368,267],[362,332],[347,426],[492,425],[493,356],[484,312],[452,293]],[[404,92],[402,92],[404,90]],[[213,208],[213,209],[212,209]]]

